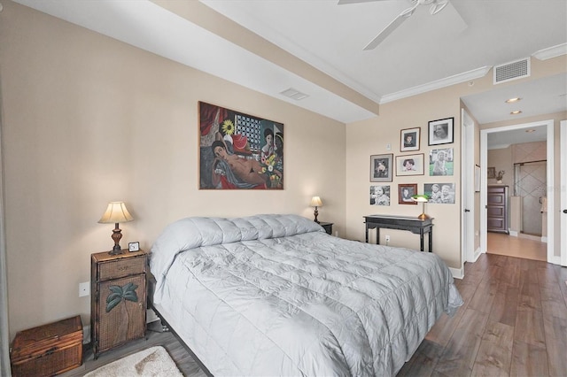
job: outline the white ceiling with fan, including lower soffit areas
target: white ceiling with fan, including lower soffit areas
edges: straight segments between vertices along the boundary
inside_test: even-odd
[[[216,35],[213,27],[197,25],[198,19],[191,22],[186,14],[171,12],[175,6],[183,8],[183,1],[15,1],[345,123],[376,116],[364,100],[384,104],[474,80],[493,65],[537,51],[567,53],[565,0],[451,0],[434,16],[428,7],[418,6],[374,50],[362,49],[409,7],[408,0],[342,5],[338,0],[201,0],[228,18],[217,15],[218,23],[235,21],[303,61],[285,66],[253,46],[240,47],[230,35]],[[296,69],[304,62],[363,100]],[[280,94],[287,88],[308,96],[289,99]],[[520,119],[567,111],[565,93],[563,74],[463,100],[480,123],[487,123],[511,117],[502,98],[524,98]]]

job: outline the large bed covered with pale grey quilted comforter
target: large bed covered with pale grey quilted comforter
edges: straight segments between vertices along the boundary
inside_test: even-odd
[[[150,253],[151,304],[214,375],[395,375],[462,304],[435,254],[291,214],[186,218]]]

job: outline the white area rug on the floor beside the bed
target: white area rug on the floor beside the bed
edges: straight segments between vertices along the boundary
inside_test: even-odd
[[[164,376],[183,377],[167,350],[161,346],[141,350],[85,374],[85,377]]]

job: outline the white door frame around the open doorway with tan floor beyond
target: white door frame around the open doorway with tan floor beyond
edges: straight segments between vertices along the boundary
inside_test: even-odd
[[[487,204],[487,195],[486,195],[486,187],[487,187],[487,177],[486,177],[486,164],[487,164],[487,148],[486,142],[488,140],[488,135],[493,134],[496,132],[502,131],[509,131],[513,129],[522,129],[522,128],[532,128],[532,127],[540,127],[540,126],[547,126],[547,150],[548,150],[548,167],[547,167],[547,184],[548,184],[548,263],[553,263],[555,265],[560,264],[560,258],[554,256],[554,223],[555,223],[555,216],[554,216],[554,120],[542,120],[540,122],[532,122],[532,123],[523,123],[517,124],[513,126],[506,126],[506,127],[495,127],[495,128],[487,128],[480,130],[480,166],[481,168],[481,180],[480,180],[480,251],[485,253],[487,248],[487,241],[486,241],[486,221],[487,221],[487,213],[486,213],[486,204]],[[551,215],[551,216],[550,216]]]

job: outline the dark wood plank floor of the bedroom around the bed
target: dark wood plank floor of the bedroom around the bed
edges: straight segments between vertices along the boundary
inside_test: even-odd
[[[567,268],[483,254],[455,280],[465,304],[443,315],[398,376],[567,376]],[[79,376],[153,345],[163,345],[185,376],[203,376],[170,333],[148,333],[96,361],[86,352]]]

